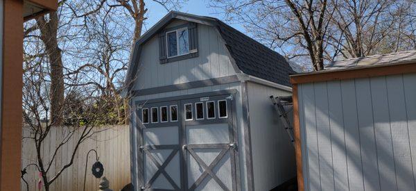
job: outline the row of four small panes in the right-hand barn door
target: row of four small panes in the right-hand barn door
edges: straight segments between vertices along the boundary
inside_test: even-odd
[[[195,119],[215,119],[216,115],[218,118],[227,118],[227,100],[218,100],[217,101],[218,107],[215,107],[215,101],[206,101],[205,102],[205,109],[203,102],[195,103]],[[193,120],[193,104],[186,103],[184,105],[185,108],[185,120],[191,121]],[[218,114],[216,114],[216,110],[218,110]],[[204,114],[206,113],[206,115]]]

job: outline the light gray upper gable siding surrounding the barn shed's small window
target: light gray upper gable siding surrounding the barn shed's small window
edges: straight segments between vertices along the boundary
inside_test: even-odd
[[[167,28],[184,24],[177,20]],[[139,73],[134,90],[164,85],[188,83],[236,74],[229,60],[225,44],[212,26],[198,24],[198,53],[196,58],[160,64],[157,35],[143,44],[139,59]]]

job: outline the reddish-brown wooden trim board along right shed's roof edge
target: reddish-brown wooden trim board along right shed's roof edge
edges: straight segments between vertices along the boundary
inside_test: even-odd
[[[313,83],[320,81],[339,81],[352,78],[369,78],[395,74],[416,73],[416,63],[395,63],[390,65],[373,65],[350,69],[323,70],[291,75],[291,83]]]

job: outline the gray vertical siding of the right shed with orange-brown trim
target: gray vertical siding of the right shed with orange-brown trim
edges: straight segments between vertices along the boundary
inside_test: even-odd
[[[415,190],[416,74],[298,86],[306,190]]]

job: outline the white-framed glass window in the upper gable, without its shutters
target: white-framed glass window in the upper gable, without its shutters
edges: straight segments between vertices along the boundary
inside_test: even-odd
[[[180,28],[166,33],[168,58],[189,53],[188,28]]]

